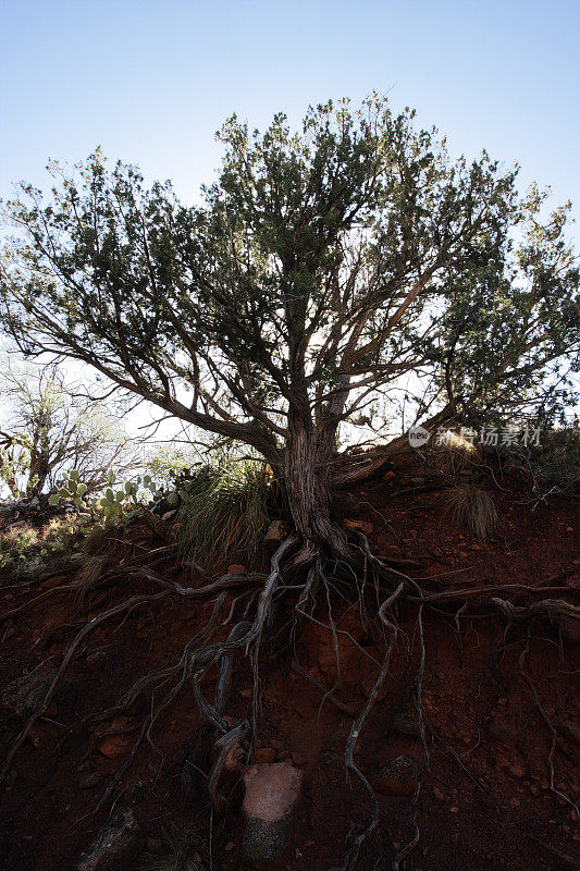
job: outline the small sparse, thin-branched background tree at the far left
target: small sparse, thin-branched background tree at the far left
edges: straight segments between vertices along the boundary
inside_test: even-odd
[[[73,468],[95,492],[106,486],[111,466],[135,467],[119,421],[72,395],[53,368],[8,369],[1,382],[9,409],[0,431],[0,478],[14,498],[52,489]]]

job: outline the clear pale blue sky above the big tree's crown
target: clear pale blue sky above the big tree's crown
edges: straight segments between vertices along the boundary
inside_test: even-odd
[[[580,0],[0,0],[0,197],[96,145],[192,199],[233,111],[388,93],[579,213]],[[580,238],[578,228],[575,235]]]

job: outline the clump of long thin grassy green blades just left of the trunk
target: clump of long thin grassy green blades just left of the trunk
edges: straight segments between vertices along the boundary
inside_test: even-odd
[[[187,557],[205,564],[231,554],[251,559],[268,524],[270,481],[263,465],[251,462],[206,466],[186,481],[178,523]]]

